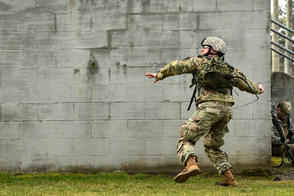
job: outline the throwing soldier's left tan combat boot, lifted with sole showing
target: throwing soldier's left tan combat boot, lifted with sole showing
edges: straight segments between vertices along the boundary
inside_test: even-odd
[[[189,157],[186,164],[187,167],[175,177],[175,181],[178,183],[186,182],[189,177],[200,174],[200,170],[195,161],[195,156]]]

